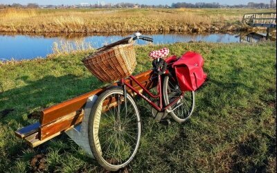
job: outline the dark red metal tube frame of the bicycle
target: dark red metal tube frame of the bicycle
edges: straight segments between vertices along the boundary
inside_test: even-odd
[[[165,73],[166,75],[168,75],[168,71],[166,71]],[[173,104],[175,104],[176,102],[178,102],[178,100],[181,98],[176,98],[175,100],[173,100],[173,102],[170,102],[170,104],[163,106],[163,98],[162,98],[162,94],[161,94],[161,75],[158,75],[158,85],[157,85],[157,90],[158,90],[158,94],[157,95],[153,95],[148,89],[146,89],[141,83],[139,83],[138,80],[136,80],[136,78],[134,78],[133,75],[129,76],[130,80],[136,82],[136,84],[138,84],[141,89],[143,89],[143,91],[145,91],[148,95],[150,95],[151,98],[159,98],[159,106],[157,106],[154,102],[152,102],[149,98],[147,98],[145,95],[143,95],[142,93],[140,93],[138,90],[134,89],[133,86],[131,86],[130,84],[128,84],[125,79],[121,79],[120,83],[124,86],[127,86],[129,89],[131,89],[132,91],[134,91],[136,94],[138,94],[141,98],[143,98],[144,100],[146,100],[149,104],[151,104],[152,107],[154,107],[154,109],[156,109],[157,111],[165,111],[166,109],[168,109],[168,107],[172,106]],[[184,94],[184,93],[183,93]]]

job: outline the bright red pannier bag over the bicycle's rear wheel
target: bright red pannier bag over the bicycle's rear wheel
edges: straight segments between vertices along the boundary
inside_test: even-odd
[[[195,91],[205,82],[207,75],[203,71],[203,65],[203,57],[190,51],[172,64],[181,91]]]

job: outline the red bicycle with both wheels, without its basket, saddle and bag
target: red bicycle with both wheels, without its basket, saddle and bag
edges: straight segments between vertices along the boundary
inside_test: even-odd
[[[133,37],[133,40],[136,39],[153,42],[152,38],[141,35]],[[156,73],[157,94],[145,89],[133,75],[128,77],[150,98],[157,99],[156,102],[134,89],[125,78],[120,80],[118,86],[107,89],[98,96],[89,116],[89,144],[93,156],[102,167],[111,171],[125,167],[132,161],[139,148],[141,118],[136,102],[126,87],[148,102],[154,111],[161,113],[163,116],[159,120],[165,118],[167,113],[177,122],[184,122],[190,118],[195,106],[195,93],[179,89],[172,68],[172,63],[175,61],[177,58],[163,60],[157,57],[153,60],[152,64],[157,65],[153,65],[152,69]]]

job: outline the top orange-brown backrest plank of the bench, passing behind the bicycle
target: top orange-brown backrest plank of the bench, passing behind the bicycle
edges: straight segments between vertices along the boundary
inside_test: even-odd
[[[135,78],[139,80],[139,82],[143,82],[143,85],[145,85],[148,88],[150,86],[153,86],[153,82],[151,82],[152,70],[145,71],[144,73],[140,73],[139,75],[135,75]],[[136,86],[134,82],[129,83],[131,83],[133,86]],[[117,83],[111,84],[111,86],[117,85]],[[40,116],[40,124],[42,126],[47,125],[48,123],[51,123],[54,120],[57,120],[58,118],[62,118],[62,116],[72,113],[73,111],[76,111],[78,109],[82,109],[82,107],[84,107],[84,104],[87,102],[87,98],[89,98],[89,96],[99,95],[100,93],[102,93],[102,91],[105,91],[105,89],[107,89],[107,87],[102,89],[96,89],[89,93],[85,93],[78,97],[72,98],[71,100],[67,100],[60,104],[55,104],[52,107],[44,109],[41,113],[42,115]]]

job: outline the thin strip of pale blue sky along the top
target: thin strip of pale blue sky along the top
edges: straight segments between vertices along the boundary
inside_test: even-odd
[[[197,2],[205,2],[205,3],[212,3],[218,2],[220,4],[227,4],[227,5],[238,5],[238,4],[247,4],[249,2],[254,3],[269,3],[270,0],[202,0],[202,1],[193,1],[193,0],[99,0],[99,2],[104,1],[105,3],[120,3],[120,2],[127,2],[127,3],[139,3],[139,4],[147,4],[147,5],[171,5],[172,3],[177,2],[186,2],[186,3],[197,3]],[[0,0],[0,3],[3,4],[12,4],[12,3],[21,3],[26,5],[27,3],[38,3],[39,5],[77,5],[80,3],[97,3],[97,0]]]

